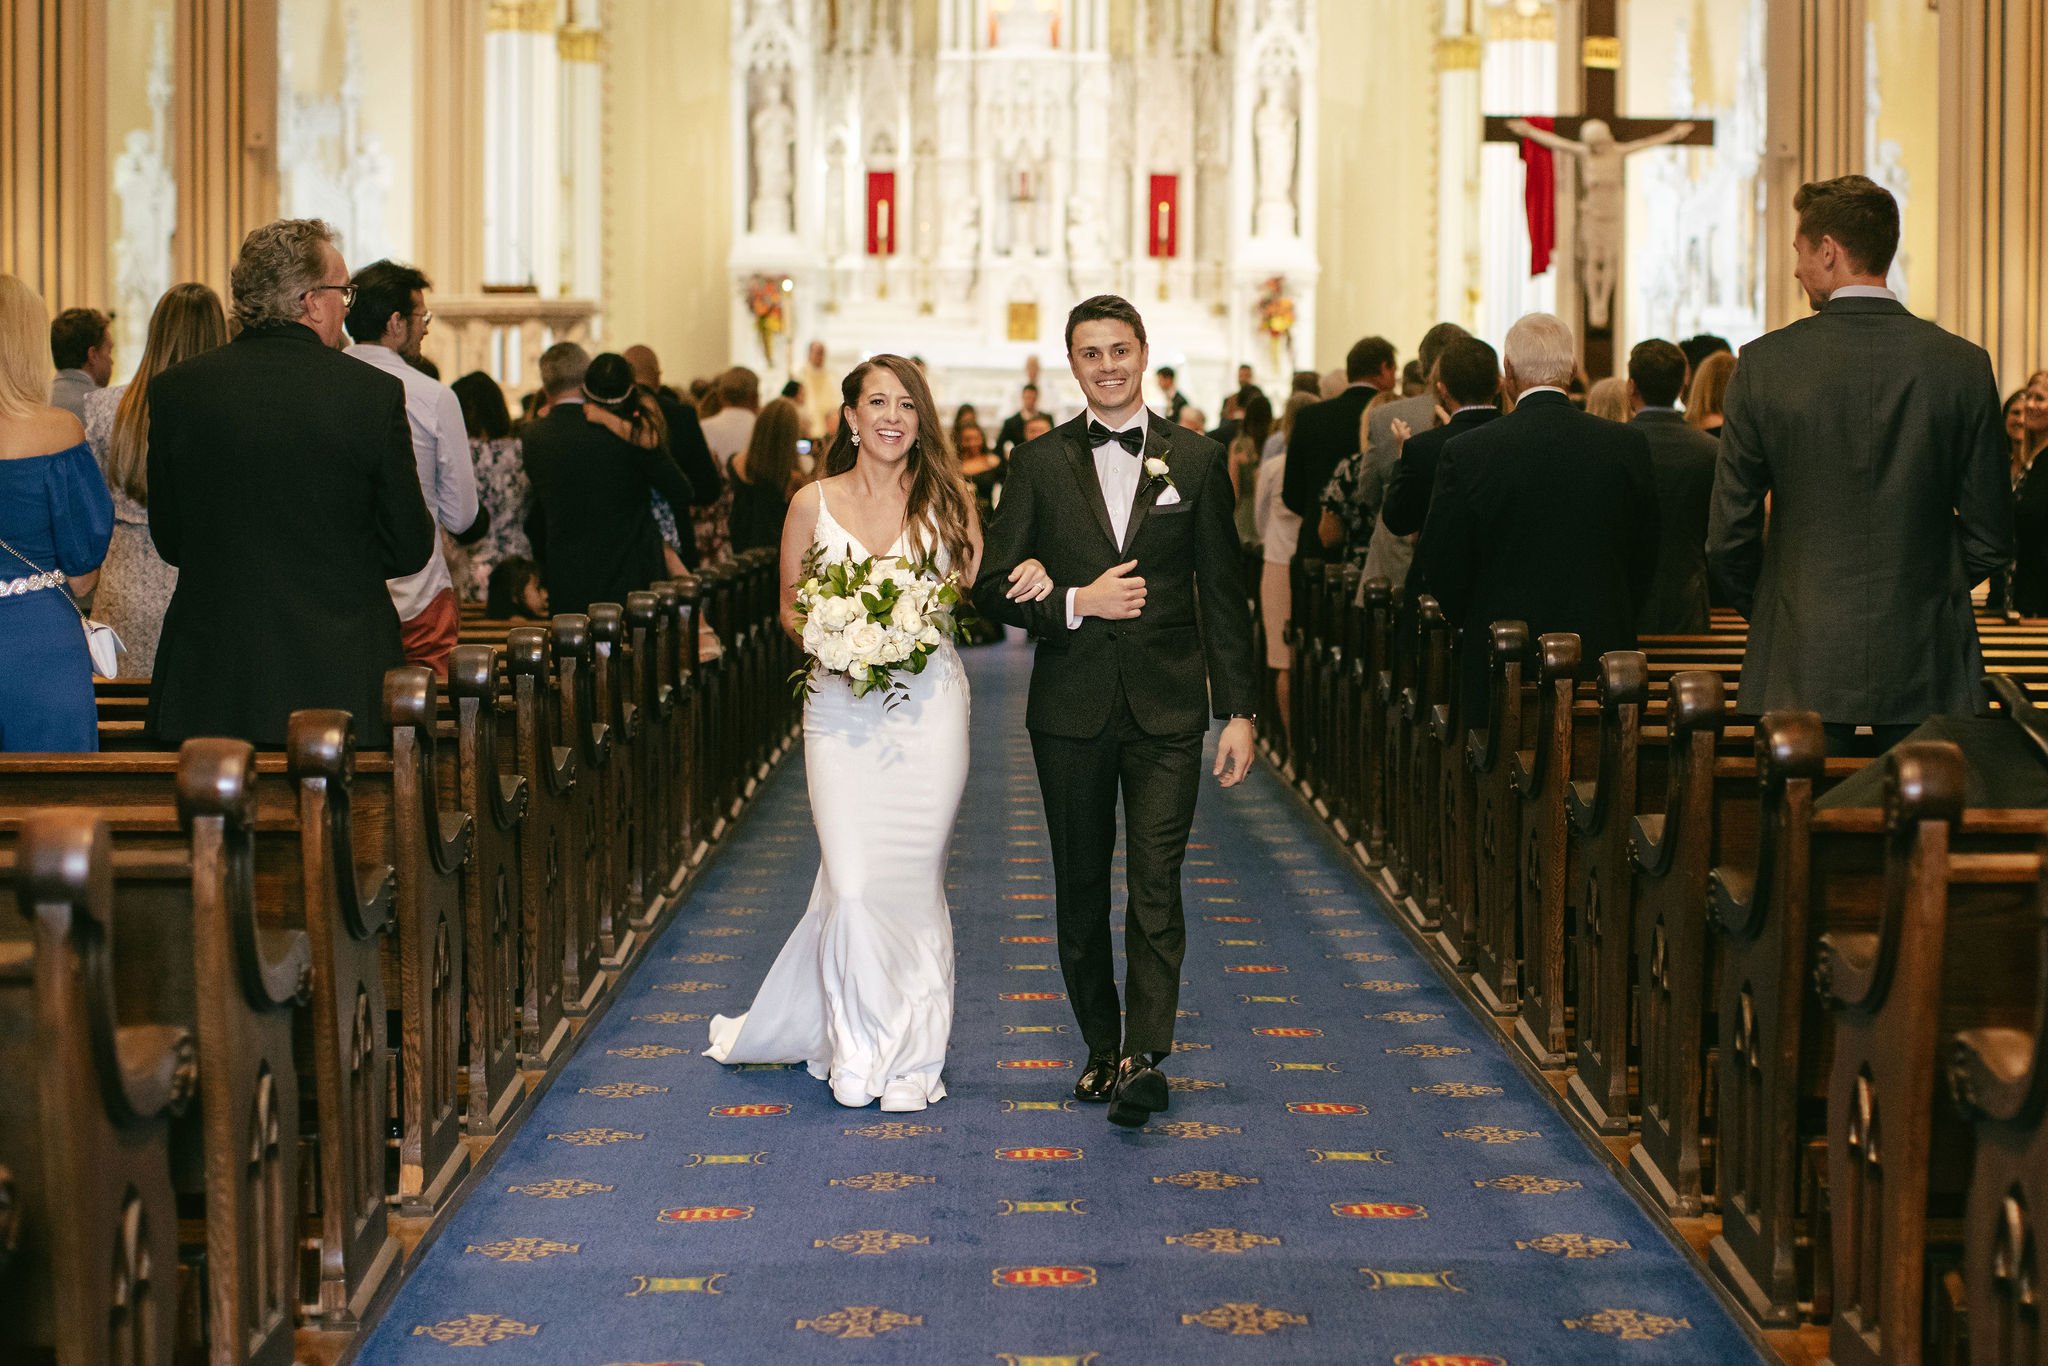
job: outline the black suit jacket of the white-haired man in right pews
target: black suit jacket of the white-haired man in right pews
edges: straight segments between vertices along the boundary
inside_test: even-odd
[[[1526,621],[1530,641],[1575,631],[1587,670],[1634,647],[1657,565],[1649,442],[1563,393],[1526,393],[1505,418],[1444,446],[1415,561],[1444,616],[1464,629],[1458,696],[1466,723],[1483,725],[1493,623]]]

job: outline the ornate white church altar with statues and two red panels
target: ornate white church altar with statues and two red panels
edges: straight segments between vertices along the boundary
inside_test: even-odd
[[[909,0],[748,0],[731,354],[909,352],[985,422],[1038,356],[1067,414],[1065,315],[1108,291],[1204,412],[1239,365],[1284,393],[1313,365],[1315,8],[940,0],[920,29]]]

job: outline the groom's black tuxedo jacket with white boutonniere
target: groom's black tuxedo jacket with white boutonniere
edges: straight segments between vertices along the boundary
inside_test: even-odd
[[[1026,709],[1034,731],[1092,739],[1118,690],[1151,735],[1204,731],[1210,715],[1253,711],[1251,606],[1223,446],[1153,416],[1145,457],[1167,463],[1180,502],[1161,508],[1165,483],[1141,473],[1122,545],[1110,537],[1085,410],[1010,457],[975,604],[1038,639]],[[1012,602],[1010,571],[1032,557],[1053,575],[1053,594]],[[1139,561],[1145,610],[1130,621],[1085,616],[1069,631],[1067,590],[1126,559]]]

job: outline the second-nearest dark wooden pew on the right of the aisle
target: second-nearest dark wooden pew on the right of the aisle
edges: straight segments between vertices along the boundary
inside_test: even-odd
[[[1835,1024],[1829,1204],[1837,1366],[1921,1360],[1929,1274],[1960,1237],[1970,1130],[1937,1067],[1962,1030],[2034,1022],[2044,907],[2042,834],[2025,852],[1956,852],[1962,754],[1909,741],[1886,756],[1882,893],[1870,928],[1821,936],[1817,981]],[[1937,1339],[1937,1350],[1942,1348]]]

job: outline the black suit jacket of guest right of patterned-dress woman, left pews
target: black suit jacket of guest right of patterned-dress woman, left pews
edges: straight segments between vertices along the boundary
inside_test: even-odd
[[[662,578],[662,535],[649,492],[670,508],[690,506],[690,481],[666,446],[618,440],[561,403],[526,428],[526,479],[541,522],[541,582],[549,608],[586,612],[592,602],[625,602]]]

